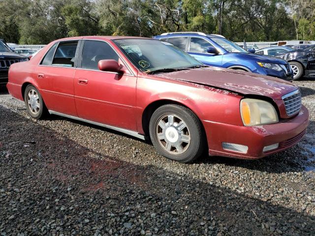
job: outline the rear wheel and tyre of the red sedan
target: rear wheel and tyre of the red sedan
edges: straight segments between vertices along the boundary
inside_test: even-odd
[[[28,85],[25,89],[24,102],[26,110],[32,118],[43,119],[48,114],[48,110],[40,93],[32,85]]]

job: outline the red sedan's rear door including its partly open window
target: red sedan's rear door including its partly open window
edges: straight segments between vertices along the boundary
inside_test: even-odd
[[[51,111],[77,116],[73,78],[79,40],[55,43],[34,71],[40,93]]]

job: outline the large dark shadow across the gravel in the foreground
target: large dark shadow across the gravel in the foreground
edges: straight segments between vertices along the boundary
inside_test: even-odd
[[[262,224],[269,235],[315,232],[306,212],[104,156],[2,106],[0,120],[0,229],[7,235],[262,235]]]

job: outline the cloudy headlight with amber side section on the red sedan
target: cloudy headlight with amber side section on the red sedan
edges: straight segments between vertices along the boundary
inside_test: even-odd
[[[252,98],[241,100],[241,116],[245,126],[271,124],[279,121],[273,105]]]

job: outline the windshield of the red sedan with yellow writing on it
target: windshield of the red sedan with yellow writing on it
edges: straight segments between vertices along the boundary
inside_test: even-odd
[[[117,39],[115,44],[144,72],[203,66],[174,45],[154,39]]]

